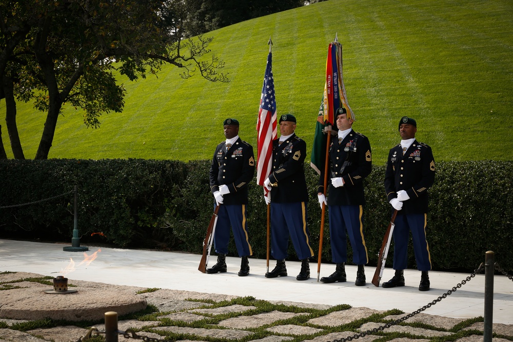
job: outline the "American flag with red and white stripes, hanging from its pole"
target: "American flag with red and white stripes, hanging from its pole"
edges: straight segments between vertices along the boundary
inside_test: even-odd
[[[264,180],[271,173],[272,140],[277,138],[276,99],[274,97],[274,79],[272,78],[271,61],[272,55],[269,51],[257,121],[257,182],[258,185],[262,186],[264,185]]]

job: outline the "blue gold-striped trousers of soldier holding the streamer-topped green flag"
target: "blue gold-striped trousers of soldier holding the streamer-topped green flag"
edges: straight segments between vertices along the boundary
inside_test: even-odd
[[[368,263],[363,234],[362,206],[328,206],[331,260],[340,264],[347,261],[346,232],[353,251],[353,263]]]

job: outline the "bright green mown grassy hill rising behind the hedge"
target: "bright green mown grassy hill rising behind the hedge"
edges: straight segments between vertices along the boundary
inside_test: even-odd
[[[226,117],[239,119],[241,137],[256,146],[269,36],[278,113],[298,118],[296,132],[310,148],[327,46],[338,33],[353,128],[369,137],[375,163],[385,163],[399,142],[403,115],[417,119],[417,138],[436,160],[510,160],[511,13],[510,0],[330,0],[232,25],[209,34],[230,83],[198,75],[184,81],[174,67],[137,82],[120,77],[128,90],[124,112],[87,129],[82,112],[67,107],[49,157],[210,159]],[[35,155],[45,116],[18,105],[27,158]],[[3,119],[0,125],[12,157]]]

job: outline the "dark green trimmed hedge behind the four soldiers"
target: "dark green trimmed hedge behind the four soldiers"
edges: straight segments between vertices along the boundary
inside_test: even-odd
[[[76,185],[82,244],[201,253],[213,210],[209,165],[207,160],[2,160],[0,207],[65,195],[0,209],[0,234],[69,242],[73,229],[70,191]],[[433,269],[472,270],[484,261],[487,250],[496,253],[501,267],[512,269],[513,162],[440,162],[437,168],[427,227]],[[307,165],[305,170],[310,193],[308,227],[317,259],[321,223],[318,176]],[[366,178],[364,229],[371,266],[376,265],[391,214],[385,201],[384,172],[384,166],[374,166]],[[267,215],[262,194],[253,180],[247,219],[249,241],[258,258],[266,256]],[[233,242],[229,250],[230,255],[237,255]],[[295,258],[291,244],[289,254]],[[412,248],[409,255],[408,266],[415,267]],[[331,260],[327,215],[322,259]]]

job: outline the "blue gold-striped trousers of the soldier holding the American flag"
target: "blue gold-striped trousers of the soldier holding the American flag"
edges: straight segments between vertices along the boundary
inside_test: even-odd
[[[303,260],[313,256],[310,247],[310,233],[306,225],[308,217],[304,202],[271,202],[271,255],[277,259],[288,256],[289,234],[298,258]]]

